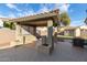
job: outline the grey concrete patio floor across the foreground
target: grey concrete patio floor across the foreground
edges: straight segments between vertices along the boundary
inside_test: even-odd
[[[39,43],[39,42],[36,42]],[[55,43],[52,55],[37,52],[34,43],[0,51],[2,62],[87,62],[87,47],[74,47],[72,43]]]

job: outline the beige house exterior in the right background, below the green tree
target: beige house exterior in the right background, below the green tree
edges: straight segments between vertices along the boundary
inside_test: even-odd
[[[64,35],[87,37],[87,28],[81,26],[81,28],[76,28],[74,30],[65,30]]]

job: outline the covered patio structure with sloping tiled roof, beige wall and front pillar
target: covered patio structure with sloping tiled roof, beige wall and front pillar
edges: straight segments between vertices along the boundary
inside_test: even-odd
[[[37,37],[36,28],[47,26],[47,35],[41,37],[42,46],[40,46],[39,50],[43,51],[43,48],[46,48],[45,51],[51,52],[54,48],[53,22],[59,24],[58,12],[59,10],[54,10],[54,11],[50,11],[50,12],[45,12],[36,15],[30,15],[30,17],[23,17],[23,18],[10,20],[10,22],[15,23],[15,41],[12,42],[11,45],[14,46],[14,45],[30,43],[29,39],[32,39],[32,37],[30,37],[29,32],[35,37]],[[23,31],[25,31],[26,33],[23,33]],[[48,46],[43,47],[43,44]]]

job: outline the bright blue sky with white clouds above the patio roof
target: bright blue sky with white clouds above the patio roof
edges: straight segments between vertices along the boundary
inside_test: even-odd
[[[0,18],[18,18],[59,9],[66,11],[72,20],[70,25],[81,25],[86,18],[87,3],[0,3]]]

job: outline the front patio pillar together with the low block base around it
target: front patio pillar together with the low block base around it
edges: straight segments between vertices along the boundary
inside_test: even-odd
[[[53,48],[53,21],[47,20],[47,35],[42,37],[42,44],[37,45],[37,51],[51,54]]]

